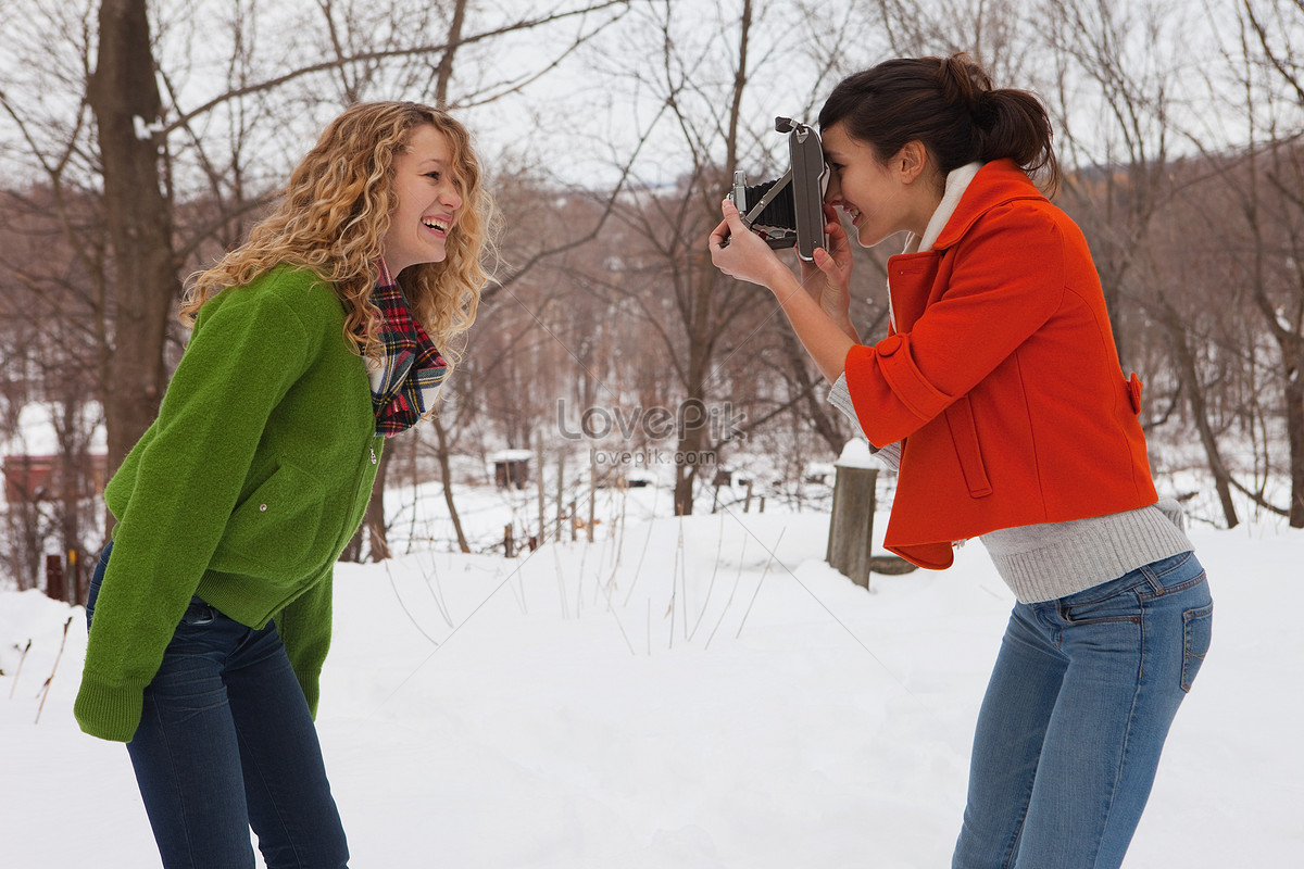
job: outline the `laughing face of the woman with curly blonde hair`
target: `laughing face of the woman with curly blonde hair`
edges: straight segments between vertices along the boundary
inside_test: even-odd
[[[462,211],[449,137],[429,124],[412,129],[408,147],[394,158],[398,202],[385,233],[383,257],[390,274],[408,266],[443,262],[452,224]]]

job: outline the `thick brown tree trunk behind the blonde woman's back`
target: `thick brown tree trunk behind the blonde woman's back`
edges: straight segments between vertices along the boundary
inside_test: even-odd
[[[110,473],[158,413],[167,387],[167,322],[179,289],[172,207],[162,188],[159,143],[149,132],[162,113],[154,72],[146,0],[103,0],[87,98],[99,129],[113,249],[113,352],[103,384]]]

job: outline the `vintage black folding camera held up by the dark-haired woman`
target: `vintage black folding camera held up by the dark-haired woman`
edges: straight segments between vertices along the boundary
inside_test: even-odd
[[[747,186],[742,172],[734,172],[729,198],[738,206],[742,221],[776,250],[797,248],[797,255],[811,262],[816,248],[827,248],[824,235],[824,188],[828,167],[819,133],[790,117],[776,117],[775,130],[788,133],[788,172],[773,181]]]

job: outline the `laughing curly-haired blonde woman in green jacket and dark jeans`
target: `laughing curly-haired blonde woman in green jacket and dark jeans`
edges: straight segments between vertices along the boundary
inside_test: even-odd
[[[344,866],[313,717],[331,565],[386,435],[430,412],[486,275],[467,130],[335,119],[249,241],[200,274],[158,420],[104,498],[74,713],[126,743],[164,866]]]

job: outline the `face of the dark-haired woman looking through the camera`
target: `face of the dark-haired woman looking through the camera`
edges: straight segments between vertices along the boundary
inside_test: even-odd
[[[910,164],[906,149],[883,163],[872,147],[848,135],[842,124],[832,124],[820,138],[829,167],[824,202],[852,218],[861,246],[872,248],[901,231],[923,235],[938,202],[917,182],[922,167]]]

